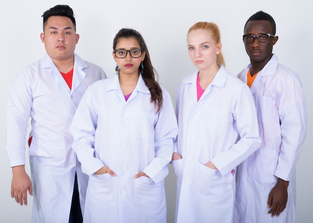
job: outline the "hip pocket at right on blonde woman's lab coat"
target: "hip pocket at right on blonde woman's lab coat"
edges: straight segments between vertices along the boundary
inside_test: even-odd
[[[193,189],[194,194],[198,196],[221,197],[223,195],[223,177],[218,170],[197,163]]]

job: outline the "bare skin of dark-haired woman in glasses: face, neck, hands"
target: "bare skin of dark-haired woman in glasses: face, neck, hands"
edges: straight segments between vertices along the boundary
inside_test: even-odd
[[[140,45],[137,42],[137,40],[134,37],[130,38],[120,38],[117,41],[117,44],[115,46],[115,49],[124,49],[124,50],[131,50],[131,49],[140,49]],[[118,55],[118,53],[116,52]],[[127,52],[127,55],[125,58],[117,58],[115,56],[115,53],[112,52],[113,59],[117,63],[119,67],[118,71],[118,78],[119,78],[119,84],[120,88],[124,95],[130,94],[133,89],[136,87],[138,78],[139,78],[139,66],[141,64],[141,61],[143,61],[145,52],[143,51],[141,56],[138,58],[133,58],[130,56],[130,53]],[[116,174],[110,170],[108,167],[103,166],[101,169],[96,171],[94,174],[105,174],[108,173],[111,176],[115,177]],[[134,178],[139,177],[149,177],[144,172],[137,173]]]

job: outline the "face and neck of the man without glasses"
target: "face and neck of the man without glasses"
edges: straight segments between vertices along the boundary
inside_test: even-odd
[[[65,16],[51,16],[40,33],[45,50],[57,69],[63,73],[74,65],[74,50],[79,35],[75,33],[72,21]]]

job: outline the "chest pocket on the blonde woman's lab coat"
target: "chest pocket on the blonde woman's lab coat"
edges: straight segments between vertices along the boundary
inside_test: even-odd
[[[226,109],[208,108],[202,110],[201,128],[211,136],[219,136],[225,125]]]

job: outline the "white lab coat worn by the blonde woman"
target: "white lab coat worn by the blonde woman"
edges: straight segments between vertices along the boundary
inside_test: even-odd
[[[182,79],[176,92],[177,223],[231,223],[231,171],[260,145],[249,88],[220,69],[197,101],[197,73]],[[211,161],[218,170],[204,164]]]

